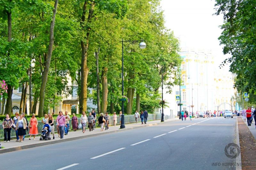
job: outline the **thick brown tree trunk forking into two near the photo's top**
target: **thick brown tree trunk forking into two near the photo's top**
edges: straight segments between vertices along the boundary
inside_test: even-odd
[[[87,1],[84,2],[84,4],[87,4]],[[89,15],[87,22],[90,23],[92,20],[92,14],[94,10],[94,2],[91,2],[91,9],[89,10]],[[86,5],[84,5],[84,11],[82,16],[82,22],[85,20],[85,11],[86,11]],[[88,53],[88,47],[89,47],[89,36],[91,32],[91,28],[87,27],[87,33],[86,33],[86,42],[84,40],[81,41],[81,48],[82,48],[82,58],[81,58],[81,98],[79,102],[79,111],[80,112],[86,112],[87,111],[87,76],[89,69],[87,67],[87,53]]]

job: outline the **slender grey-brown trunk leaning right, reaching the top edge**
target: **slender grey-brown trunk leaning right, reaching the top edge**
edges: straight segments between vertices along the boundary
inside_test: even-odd
[[[51,21],[51,26],[50,26],[50,40],[49,40],[47,58],[44,61],[45,68],[44,68],[44,73],[42,76],[42,84],[41,84],[40,94],[39,94],[39,97],[40,97],[39,108],[38,108],[38,116],[39,117],[43,117],[43,115],[44,115],[44,96],[45,96],[44,93],[45,93],[45,87],[46,87],[46,83],[47,83],[50,63],[51,63],[51,59],[52,59],[52,48],[53,48],[53,43],[54,43],[54,25],[55,25],[55,16],[56,16],[56,11],[57,11],[58,1],[59,0],[55,0],[55,3],[54,3],[53,16],[52,16],[52,21]]]

